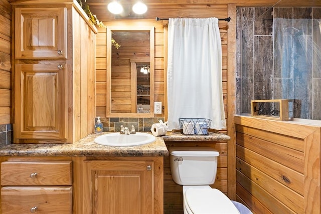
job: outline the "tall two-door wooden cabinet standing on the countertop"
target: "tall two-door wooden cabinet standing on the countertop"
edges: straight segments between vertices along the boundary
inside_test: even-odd
[[[76,1],[13,2],[14,143],[93,132],[95,34]]]

